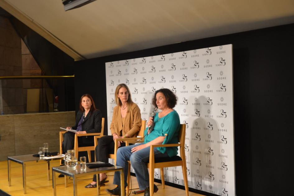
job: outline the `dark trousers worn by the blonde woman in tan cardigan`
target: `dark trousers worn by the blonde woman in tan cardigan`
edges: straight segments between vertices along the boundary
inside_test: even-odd
[[[126,146],[126,143],[121,143],[120,146]],[[96,161],[108,163],[108,154],[114,154],[114,141],[112,135],[106,135],[99,138],[98,145],[95,147]],[[96,174],[93,176],[93,181],[97,182]]]

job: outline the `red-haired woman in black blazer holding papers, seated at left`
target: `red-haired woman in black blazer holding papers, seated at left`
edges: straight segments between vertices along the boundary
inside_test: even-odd
[[[74,148],[75,134],[84,133],[100,133],[101,132],[101,119],[102,115],[100,110],[97,110],[93,98],[89,94],[85,94],[80,100],[80,110],[77,112],[76,124],[67,129],[77,130],[76,133],[70,131],[64,134],[64,141],[62,145],[62,152],[66,153],[67,150]],[[79,144],[84,146],[94,145],[93,136],[81,137],[78,141]],[[78,157],[77,157],[78,158]]]

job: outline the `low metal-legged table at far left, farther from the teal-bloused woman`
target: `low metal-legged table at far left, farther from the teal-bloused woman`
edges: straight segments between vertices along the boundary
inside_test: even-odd
[[[11,161],[14,161],[16,163],[19,163],[22,165],[22,185],[23,185],[23,193],[26,194],[26,162],[29,161],[36,161],[36,162],[47,162],[47,177],[48,180],[50,180],[50,161],[53,160],[59,160],[63,159],[63,157],[57,157],[57,158],[50,158],[50,159],[43,159],[40,157],[35,157],[33,154],[30,155],[19,155],[19,156],[8,156],[7,162],[8,162],[8,185],[11,186]]]

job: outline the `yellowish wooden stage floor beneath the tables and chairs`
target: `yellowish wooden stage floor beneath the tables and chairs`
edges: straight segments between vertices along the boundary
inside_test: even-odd
[[[7,171],[7,161],[0,161],[0,189],[12,196],[17,195],[27,195],[27,196],[46,196],[53,195],[52,189],[52,180],[47,180],[46,173],[46,162],[36,163],[28,162],[26,166],[26,186],[27,194],[23,194],[22,189],[22,167],[21,164],[11,162],[11,185],[8,186],[8,171]],[[50,166],[59,166],[59,161],[51,161]],[[106,193],[105,189],[113,189],[115,185],[112,184],[114,173],[108,173],[109,183],[106,183],[105,186],[101,187],[101,195],[109,195]],[[86,189],[85,185],[89,184],[92,180],[92,175],[83,176],[77,179],[77,192],[78,195],[97,195],[97,188]],[[52,179],[52,176],[51,176]],[[68,180],[68,187],[64,187],[64,178],[56,179],[56,193],[57,195],[70,196],[73,195],[72,180]],[[182,196],[185,195],[185,191],[182,189],[177,189],[171,186],[165,186],[165,189],[162,189],[161,184],[155,183],[158,186],[158,192],[154,195],[168,195],[168,196]],[[134,176],[132,176],[132,189],[138,189],[138,182]],[[132,190],[132,192],[134,191]],[[140,194],[130,194],[143,196],[143,193]],[[202,196],[201,194],[196,194],[189,192],[190,196]]]

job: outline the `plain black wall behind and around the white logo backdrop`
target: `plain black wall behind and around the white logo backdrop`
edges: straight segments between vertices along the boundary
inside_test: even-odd
[[[291,195],[293,29],[277,26],[75,62],[76,110],[82,94],[90,93],[107,117],[105,62],[233,44],[236,194]]]

